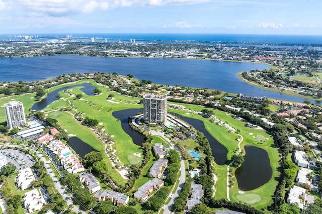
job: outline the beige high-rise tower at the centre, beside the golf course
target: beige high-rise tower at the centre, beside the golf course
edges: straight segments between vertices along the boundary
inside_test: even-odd
[[[153,94],[143,96],[143,119],[150,124],[166,123],[167,96]]]

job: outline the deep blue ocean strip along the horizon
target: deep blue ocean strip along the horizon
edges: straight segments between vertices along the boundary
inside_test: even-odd
[[[1,34],[0,40],[22,39],[28,35],[33,38],[59,38],[67,34]],[[252,42],[297,45],[321,45],[321,35],[265,35],[265,34],[162,34],[162,33],[69,33],[74,39],[102,38],[112,41],[135,39],[136,41],[189,41],[189,42]],[[15,38],[16,36],[16,38]]]

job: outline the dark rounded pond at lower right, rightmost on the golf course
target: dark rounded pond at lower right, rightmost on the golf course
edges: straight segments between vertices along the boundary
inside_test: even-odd
[[[272,167],[268,153],[261,148],[247,145],[245,161],[235,171],[240,190],[256,189],[272,178]]]

